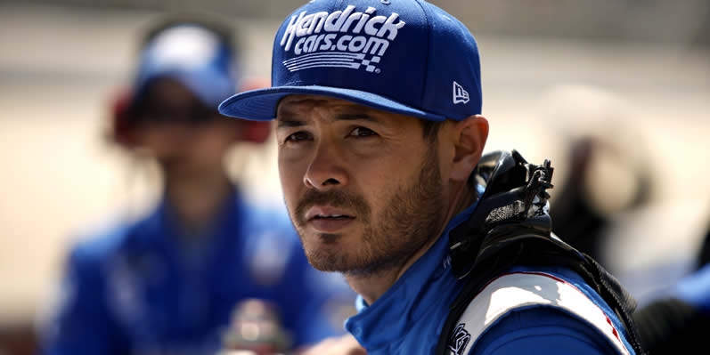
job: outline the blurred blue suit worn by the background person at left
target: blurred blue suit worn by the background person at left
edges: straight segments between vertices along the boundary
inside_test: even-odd
[[[339,275],[311,268],[285,214],[235,193],[207,232],[182,233],[163,201],[75,246],[43,353],[215,354],[248,298],[276,306],[294,347],[342,333],[345,317],[325,310],[355,295]]]

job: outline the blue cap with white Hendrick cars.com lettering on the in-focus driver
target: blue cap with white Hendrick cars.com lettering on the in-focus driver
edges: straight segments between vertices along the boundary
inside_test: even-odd
[[[276,33],[272,87],[236,94],[219,112],[271,120],[294,93],[461,120],[481,113],[476,40],[461,21],[421,0],[313,0]]]

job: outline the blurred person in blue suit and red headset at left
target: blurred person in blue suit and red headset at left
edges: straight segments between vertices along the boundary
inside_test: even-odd
[[[331,318],[352,300],[331,291],[347,286],[310,267],[285,210],[249,204],[225,171],[234,143],[261,143],[270,129],[216,110],[236,91],[232,36],[185,18],[144,38],[133,90],[115,103],[111,137],[156,161],[163,196],[138,221],[70,250],[42,327],[43,353],[215,354],[242,301],[267,304],[276,327],[268,339],[248,336],[249,346],[272,342],[283,351],[343,332],[347,314]]]

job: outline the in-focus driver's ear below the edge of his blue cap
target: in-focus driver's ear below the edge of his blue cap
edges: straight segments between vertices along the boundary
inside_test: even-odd
[[[467,117],[453,127],[454,155],[451,178],[465,182],[481,158],[488,139],[488,120],[481,115]]]

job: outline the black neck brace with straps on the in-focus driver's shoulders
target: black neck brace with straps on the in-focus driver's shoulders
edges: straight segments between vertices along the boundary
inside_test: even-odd
[[[481,157],[469,177],[471,189],[484,188],[468,221],[449,234],[452,272],[465,282],[451,306],[437,353],[473,297],[495,276],[513,266],[560,266],[578,273],[614,310],[627,340],[643,354],[631,313],[636,307],[623,286],[590,256],[557,238],[551,229],[547,189],[552,167],[526,162],[520,154],[496,151]]]

